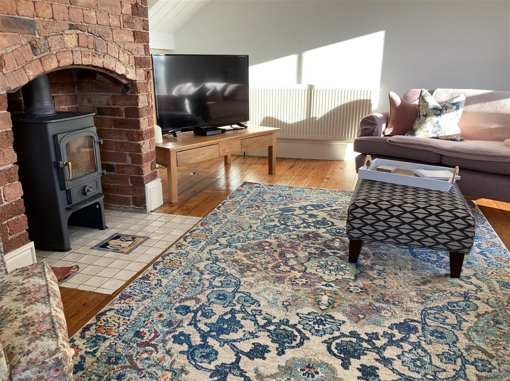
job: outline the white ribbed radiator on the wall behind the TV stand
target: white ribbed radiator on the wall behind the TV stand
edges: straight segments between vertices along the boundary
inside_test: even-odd
[[[371,110],[370,90],[311,85],[250,89],[250,124],[278,127],[280,138],[353,140]]]

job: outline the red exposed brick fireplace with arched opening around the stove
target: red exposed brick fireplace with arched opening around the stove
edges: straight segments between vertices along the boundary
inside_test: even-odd
[[[145,208],[156,163],[146,0],[2,0],[0,239],[29,242],[13,149],[19,89],[49,73],[56,111],[94,112],[105,204]]]

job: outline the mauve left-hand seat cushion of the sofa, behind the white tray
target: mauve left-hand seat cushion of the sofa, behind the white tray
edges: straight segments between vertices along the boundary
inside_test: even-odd
[[[403,137],[403,136],[402,136]],[[363,136],[354,139],[354,151],[361,154],[391,156],[426,163],[441,163],[441,155],[430,150],[401,147],[388,143],[388,136]],[[409,138],[408,138],[409,139]],[[430,139],[432,140],[432,139]],[[434,139],[435,140],[435,139]]]

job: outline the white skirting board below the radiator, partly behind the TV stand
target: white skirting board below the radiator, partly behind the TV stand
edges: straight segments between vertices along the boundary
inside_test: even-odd
[[[276,157],[354,161],[358,154],[353,151],[352,146],[352,141],[278,138]],[[247,151],[246,155],[267,156],[267,148]]]

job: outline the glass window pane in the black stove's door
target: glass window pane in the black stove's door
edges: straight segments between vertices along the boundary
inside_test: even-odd
[[[96,171],[92,136],[80,136],[69,140],[65,149],[67,161],[72,165],[72,180]]]

